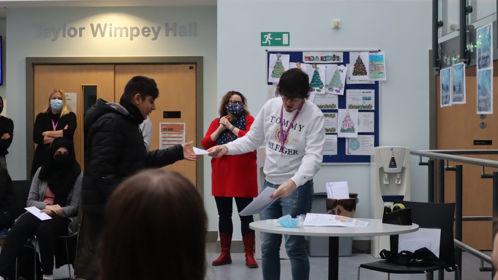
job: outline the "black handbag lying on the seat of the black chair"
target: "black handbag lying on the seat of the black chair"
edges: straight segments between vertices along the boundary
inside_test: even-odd
[[[453,271],[450,266],[448,266],[443,261],[439,260],[434,253],[432,253],[426,247],[415,250],[415,252],[401,251],[400,253],[395,253],[387,250],[380,251],[380,258],[387,260],[388,262],[394,263],[398,266],[406,267],[431,267],[431,266],[442,266],[448,272]]]

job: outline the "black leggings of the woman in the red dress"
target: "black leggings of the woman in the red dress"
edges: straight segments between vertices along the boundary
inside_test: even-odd
[[[235,198],[235,203],[237,204],[237,211],[240,213],[246,206],[252,201],[252,197],[222,197],[215,196],[216,207],[218,208],[218,215],[220,216],[218,222],[218,228],[220,233],[226,233],[232,235],[234,231],[234,225],[232,224],[232,201]],[[242,235],[249,233],[254,233],[253,230],[249,228],[249,223],[253,222],[254,219],[252,215],[250,216],[240,216],[241,218],[241,232]]]

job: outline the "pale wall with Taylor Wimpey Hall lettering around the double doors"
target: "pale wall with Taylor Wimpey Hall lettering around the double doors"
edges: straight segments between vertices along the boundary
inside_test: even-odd
[[[90,23],[113,26],[162,26],[160,36],[93,37]],[[179,25],[197,22],[196,37],[165,36],[164,23]],[[216,103],[216,7],[84,7],[84,8],[9,8],[7,11],[7,98],[8,117],[14,121],[15,141],[9,149],[8,167],[14,180],[26,174],[25,57],[59,56],[203,56],[204,57],[204,131],[217,115]],[[33,24],[46,26],[86,26],[82,37],[37,37]],[[1,35],[0,20],[0,35]],[[5,87],[0,87],[1,90]],[[2,95],[3,96],[3,95]],[[5,96],[3,96],[5,98]],[[166,96],[161,98],[167,98]],[[12,108],[15,108],[13,110]],[[206,188],[211,189],[211,164],[205,159]],[[216,213],[215,213],[216,214]],[[211,216],[210,216],[211,217]],[[212,223],[210,224],[212,225]],[[216,225],[216,223],[215,223]],[[211,226],[209,230],[217,230]]]

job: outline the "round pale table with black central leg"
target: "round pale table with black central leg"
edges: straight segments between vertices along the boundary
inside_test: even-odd
[[[276,234],[304,235],[304,236],[328,236],[329,237],[329,280],[339,279],[339,237],[340,236],[378,236],[397,235],[410,233],[418,230],[417,224],[411,226],[398,226],[382,224],[380,219],[360,219],[369,222],[365,228],[347,227],[315,227],[303,226],[302,222],[295,228],[284,228],[274,225],[269,221],[255,221],[249,227],[255,231]]]

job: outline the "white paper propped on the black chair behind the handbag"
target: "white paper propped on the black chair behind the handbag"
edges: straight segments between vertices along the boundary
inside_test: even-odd
[[[439,246],[441,242],[441,229],[424,229],[399,235],[398,253],[401,251],[414,252],[426,247],[439,258]]]

